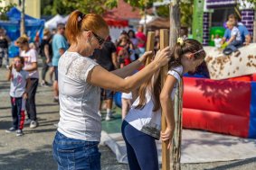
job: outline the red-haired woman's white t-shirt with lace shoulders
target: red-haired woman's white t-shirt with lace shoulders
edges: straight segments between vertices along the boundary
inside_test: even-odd
[[[77,52],[66,51],[60,58],[58,131],[71,139],[100,141],[100,87],[90,85],[87,76],[98,64]]]

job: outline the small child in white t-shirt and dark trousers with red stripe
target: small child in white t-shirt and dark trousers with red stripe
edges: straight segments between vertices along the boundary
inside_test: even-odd
[[[16,136],[23,136],[24,119],[25,119],[25,99],[30,84],[28,72],[23,70],[24,58],[15,57],[13,64],[9,67],[7,79],[11,80],[10,96],[12,104],[13,126],[8,132],[15,132]]]

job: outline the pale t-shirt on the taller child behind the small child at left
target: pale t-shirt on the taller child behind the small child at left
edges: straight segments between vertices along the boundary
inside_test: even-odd
[[[37,52],[35,49],[29,49],[28,51],[21,51],[21,57],[24,58],[24,69],[30,68],[33,66],[33,63],[37,62]],[[29,71],[30,78],[39,78],[38,69]]]

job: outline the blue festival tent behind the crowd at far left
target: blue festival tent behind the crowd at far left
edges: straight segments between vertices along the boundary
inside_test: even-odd
[[[9,21],[1,21],[0,27],[4,28],[7,36],[13,41],[12,45],[9,47],[9,57],[14,57],[18,55],[18,49],[14,47],[14,40],[20,37],[20,22],[21,22],[21,12],[13,7],[9,12],[6,13]],[[25,31],[30,40],[33,41],[37,32],[39,36],[43,38],[43,26],[44,20],[33,18],[27,14],[24,15],[25,18]]]

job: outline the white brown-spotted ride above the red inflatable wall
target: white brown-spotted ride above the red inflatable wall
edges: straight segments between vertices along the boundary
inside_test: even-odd
[[[246,76],[256,73],[256,43],[239,48],[241,54],[237,57],[223,55],[223,51],[214,47],[204,47],[205,62],[211,79],[221,80],[236,76]]]

